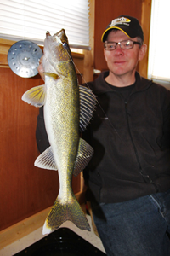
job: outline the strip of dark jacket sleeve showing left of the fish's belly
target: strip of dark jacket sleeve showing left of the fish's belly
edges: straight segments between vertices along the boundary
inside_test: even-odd
[[[49,147],[48,135],[43,119],[43,107],[39,109],[39,115],[37,116],[36,140],[37,148],[40,153]]]

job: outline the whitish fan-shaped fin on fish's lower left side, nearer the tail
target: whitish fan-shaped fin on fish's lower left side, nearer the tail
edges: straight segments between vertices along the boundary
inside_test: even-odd
[[[54,160],[54,154],[52,148],[49,147],[42,152],[35,160],[34,166],[37,166],[42,169],[54,170],[57,171],[58,167]]]

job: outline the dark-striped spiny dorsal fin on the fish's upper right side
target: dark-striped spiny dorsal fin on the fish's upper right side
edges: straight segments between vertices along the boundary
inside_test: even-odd
[[[89,124],[90,119],[93,117],[94,108],[96,105],[96,96],[92,90],[79,85],[80,92],[80,124],[79,130],[85,131]]]

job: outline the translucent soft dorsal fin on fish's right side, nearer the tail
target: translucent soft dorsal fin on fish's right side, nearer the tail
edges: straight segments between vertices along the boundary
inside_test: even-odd
[[[92,148],[85,140],[80,138],[77,160],[74,167],[74,176],[77,176],[88,165],[94,154],[94,148]]]

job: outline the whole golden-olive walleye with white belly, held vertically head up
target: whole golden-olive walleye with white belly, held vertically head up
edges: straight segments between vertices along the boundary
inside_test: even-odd
[[[41,108],[50,143],[34,165],[59,173],[59,194],[42,228],[49,234],[69,220],[81,230],[90,225],[73,193],[72,175],[77,176],[91,160],[94,149],[81,138],[93,117],[96,97],[79,85],[65,29],[51,36],[46,32],[42,61],[45,84],[27,90],[22,100]]]

